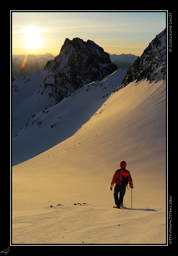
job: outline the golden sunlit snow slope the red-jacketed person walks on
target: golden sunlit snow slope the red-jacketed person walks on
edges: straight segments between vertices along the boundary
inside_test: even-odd
[[[118,72],[102,86],[117,83]],[[166,244],[166,82],[132,82],[99,101],[94,84],[76,93],[82,97],[75,106],[49,109],[54,119],[61,116],[53,128],[45,119],[40,125],[46,140],[49,129],[58,140],[64,115],[68,136],[12,167],[12,244]],[[96,102],[92,109],[85,93]],[[34,139],[43,147],[39,136]],[[129,189],[125,208],[114,209],[110,182],[121,160],[133,179],[132,207]]]

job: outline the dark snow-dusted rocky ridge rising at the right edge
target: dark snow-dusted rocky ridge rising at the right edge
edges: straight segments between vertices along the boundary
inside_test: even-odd
[[[128,69],[119,89],[129,83],[142,79],[158,82],[166,76],[166,28],[157,35],[144,50],[143,54],[135,60]]]

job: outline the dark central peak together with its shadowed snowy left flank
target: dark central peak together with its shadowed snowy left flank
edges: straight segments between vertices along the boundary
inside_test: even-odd
[[[109,54],[93,41],[66,39],[54,60],[12,83],[13,134],[37,112],[54,106],[85,84],[102,80],[116,69]]]

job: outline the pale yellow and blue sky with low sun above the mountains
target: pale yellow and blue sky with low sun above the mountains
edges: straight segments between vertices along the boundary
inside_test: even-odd
[[[167,11],[11,11],[12,54],[58,55],[66,38],[140,56],[166,28]]]

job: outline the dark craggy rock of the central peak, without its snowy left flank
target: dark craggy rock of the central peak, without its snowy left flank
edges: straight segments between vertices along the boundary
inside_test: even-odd
[[[59,102],[85,84],[102,80],[113,73],[117,66],[102,47],[91,40],[84,42],[76,37],[73,40],[66,38],[60,54],[48,61],[44,69],[51,71],[44,82],[48,86],[46,81],[52,80],[50,83],[57,90],[59,99],[56,100]]]

